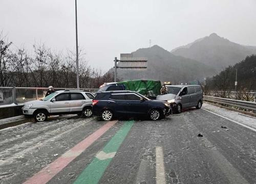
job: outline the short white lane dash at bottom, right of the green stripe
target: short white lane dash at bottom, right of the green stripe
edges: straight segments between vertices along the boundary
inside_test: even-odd
[[[165,172],[163,164],[163,148],[156,147],[156,183],[165,184]]]

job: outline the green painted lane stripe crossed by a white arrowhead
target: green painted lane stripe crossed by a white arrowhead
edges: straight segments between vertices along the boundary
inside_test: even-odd
[[[132,128],[133,123],[134,121],[126,121],[102,151],[106,154],[116,152]],[[95,157],[91,164],[78,176],[74,184],[97,184],[111,160],[112,157],[101,160]]]

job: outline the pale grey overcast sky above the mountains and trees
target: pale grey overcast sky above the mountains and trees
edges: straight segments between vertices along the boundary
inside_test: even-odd
[[[103,70],[114,57],[159,45],[167,50],[217,33],[256,45],[255,0],[77,0],[78,44],[89,65]],[[75,0],[0,0],[0,31],[16,46],[75,48]]]

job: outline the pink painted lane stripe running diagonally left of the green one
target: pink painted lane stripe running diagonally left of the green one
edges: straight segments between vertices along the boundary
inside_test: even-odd
[[[71,161],[73,161],[82,151],[86,150],[94,141],[102,136],[111,126],[117,121],[109,121],[108,123],[101,126],[93,134],[86,139],[79,142],[73,148],[68,150],[66,153],[58,157],[57,160],[40,170],[34,176],[29,178],[23,184],[45,184],[52,179],[58,172],[65,168]]]

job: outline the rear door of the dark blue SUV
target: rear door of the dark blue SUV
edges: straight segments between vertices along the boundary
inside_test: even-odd
[[[126,106],[125,94],[113,93],[110,95],[106,107],[114,111],[115,115],[124,115],[126,114]]]

